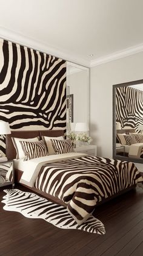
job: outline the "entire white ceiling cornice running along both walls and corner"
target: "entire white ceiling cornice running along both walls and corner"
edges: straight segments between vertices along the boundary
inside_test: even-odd
[[[22,44],[29,48],[36,49],[38,51],[45,52],[47,54],[56,56],[58,58],[67,60],[69,62],[77,63],[87,68],[102,65],[104,63],[121,59],[129,55],[136,54],[143,51],[143,43],[142,43],[142,44],[132,46],[130,48],[126,48],[122,51],[113,52],[113,54],[105,55],[98,59],[87,60],[87,59],[83,59],[79,55],[73,55],[71,54],[71,52],[68,52],[68,51],[66,52],[64,49],[61,50],[59,48],[55,48],[53,46],[47,45],[46,43],[41,43],[40,41],[36,41],[33,38],[25,37],[25,35],[13,32],[12,30],[5,29],[4,27],[0,27],[0,37],[6,40],[14,41],[15,43]]]

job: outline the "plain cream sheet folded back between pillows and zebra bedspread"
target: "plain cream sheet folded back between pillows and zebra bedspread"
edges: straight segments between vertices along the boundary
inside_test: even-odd
[[[58,162],[59,160],[67,160],[76,157],[84,157],[87,154],[82,153],[67,153],[59,155],[47,155],[45,157],[33,158],[28,161],[23,159],[15,160],[15,169],[23,171],[20,183],[27,185],[28,187],[33,187],[35,180],[39,174],[39,171],[45,163]]]

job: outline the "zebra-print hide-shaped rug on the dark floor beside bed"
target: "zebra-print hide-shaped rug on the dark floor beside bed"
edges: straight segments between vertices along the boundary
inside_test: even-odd
[[[66,207],[49,202],[37,194],[21,190],[4,190],[4,210],[19,212],[27,218],[41,218],[60,229],[79,229],[90,233],[104,235],[105,227],[99,219],[90,216],[86,222],[78,226],[67,212]]]

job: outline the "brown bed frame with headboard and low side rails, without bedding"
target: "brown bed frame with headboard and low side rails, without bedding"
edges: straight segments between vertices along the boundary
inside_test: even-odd
[[[35,137],[40,137],[41,136],[47,136],[47,137],[59,137],[59,136],[64,136],[64,131],[63,130],[15,130],[12,131],[11,134],[6,135],[6,155],[8,160],[12,160],[16,158],[16,150],[12,142],[12,137],[15,138],[35,138]],[[19,183],[19,180],[21,179],[22,176],[22,171],[19,169],[15,169],[15,183]],[[37,188],[31,188],[28,187],[27,185],[24,185],[21,183],[22,186],[27,187],[28,189],[34,191],[35,193],[41,194],[43,197],[47,198],[48,200],[55,202],[56,204],[67,206],[64,202],[61,201],[61,199],[58,199],[55,196],[51,196],[48,193],[42,192],[41,190],[38,190]],[[120,191],[119,193],[116,193],[115,195],[108,197],[107,199],[102,200],[99,202],[97,205],[103,204],[107,201],[110,201],[111,199],[120,196],[121,194],[126,193],[127,191],[130,191],[134,189],[136,185],[129,187],[123,191]]]

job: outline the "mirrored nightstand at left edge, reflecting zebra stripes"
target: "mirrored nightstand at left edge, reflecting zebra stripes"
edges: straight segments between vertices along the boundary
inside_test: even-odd
[[[0,187],[12,185],[15,187],[15,173],[13,160],[0,162]]]

